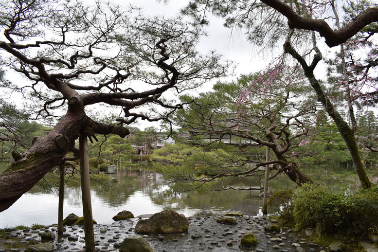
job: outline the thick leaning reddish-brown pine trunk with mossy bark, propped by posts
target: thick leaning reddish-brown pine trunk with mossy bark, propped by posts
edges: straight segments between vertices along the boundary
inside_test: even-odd
[[[79,132],[87,127],[99,134],[125,137],[129,133],[122,126],[93,122],[80,105],[70,106],[47,136],[36,138],[33,146],[0,174],[0,212],[29,191],[54,166],[60,165],[67,152],[74,148]]]

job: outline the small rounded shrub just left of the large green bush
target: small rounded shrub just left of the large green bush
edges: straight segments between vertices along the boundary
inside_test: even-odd
[[[292,190],[282,190],[273,193],[268,199],[268,207],[285,219],[293,218],[293,194]]]

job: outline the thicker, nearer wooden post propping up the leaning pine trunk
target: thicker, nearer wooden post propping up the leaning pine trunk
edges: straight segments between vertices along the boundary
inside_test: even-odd
[[[94,252],[92,204],[90,201],[90,179],[87,135],[79,137],[81,197],[83,200],[85,251]]]

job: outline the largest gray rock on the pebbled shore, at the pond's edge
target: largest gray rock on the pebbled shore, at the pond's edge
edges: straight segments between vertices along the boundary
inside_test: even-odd
[[[188,232],[189,221],[184,215],[179,215],[173,210],[163,210],[148,219],[141,219],[135,226],[135,233],[176,233]]]

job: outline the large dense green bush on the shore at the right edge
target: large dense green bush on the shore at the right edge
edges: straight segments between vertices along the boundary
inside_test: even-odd
[[[324,234],[362,236],[378,227],[378,188],[349,195],[305,184],[294,200],[297,228],[316,227]]]

